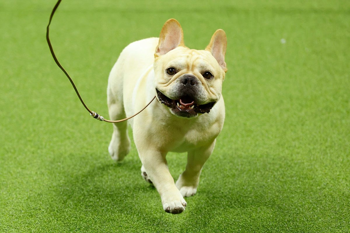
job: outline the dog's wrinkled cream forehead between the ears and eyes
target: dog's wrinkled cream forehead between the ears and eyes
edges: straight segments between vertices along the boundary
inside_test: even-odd
[[[181,70],[215,70],[215,66],[218,65],[210,52],[184,47],[178,47],[169,51],[164,58],[165,63],[163,64],[165,66],[174,66]]]

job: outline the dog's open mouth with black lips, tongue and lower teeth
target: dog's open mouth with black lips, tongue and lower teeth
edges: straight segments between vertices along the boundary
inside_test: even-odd
[[[161,93],[156,89],[158,100],[168,106],[169,108],[174,109],[174,112],[182,117],[193,117],[197,113],[209,113],[210,109],[214,106],[216,102],[210,102],[207,104],[197,104],[194,99],[190,96],[182,96],[178,100],[172,100],[166,95]]]

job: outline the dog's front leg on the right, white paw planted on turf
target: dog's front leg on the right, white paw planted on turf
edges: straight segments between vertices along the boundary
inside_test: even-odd
[[[214,150],[214,146],[215,140],[208,146],[200,147],[187,153],[186,169],[176,181],[176,187],[180,190],[183,197],[196,194],[202,167]]]

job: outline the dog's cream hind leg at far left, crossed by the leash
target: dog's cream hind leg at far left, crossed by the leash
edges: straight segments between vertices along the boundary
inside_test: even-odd
[[[114,94],[112,92],[111,86],[112,85],[109,83],[107,87],[107,103],[110,119],[123,119],[126,117],[123,105],[123,90],[121,87],[119,87],[120,90],[115,90],[116,94]],[[112,140],[108,147],[108,152],[110,153],[113,160],[121,161],[130,151],[130,139],[127,132],[127,121],[112,124],[113,134]]]

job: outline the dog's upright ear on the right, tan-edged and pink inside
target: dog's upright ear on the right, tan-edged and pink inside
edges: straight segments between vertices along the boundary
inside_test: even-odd
[[[214,35],[211,37],[210,43],[205,48],[206,51],[211,52],[213,57],[217,60],[221,68],[226,72],[226,63],[225,63],[225,53],[226,53],[227,39],[226,33],[222,29],[216,30]]]

